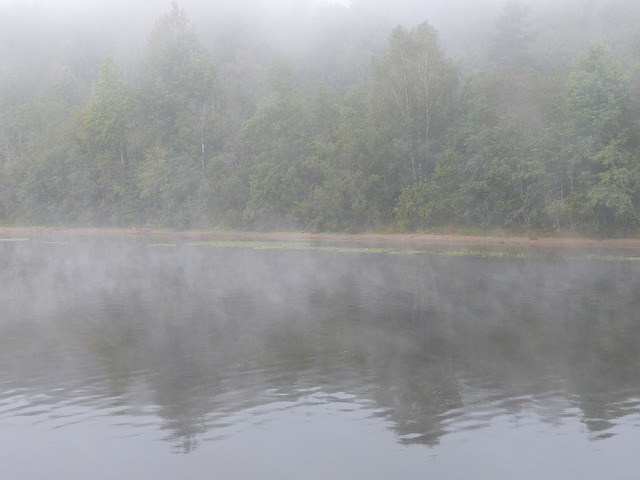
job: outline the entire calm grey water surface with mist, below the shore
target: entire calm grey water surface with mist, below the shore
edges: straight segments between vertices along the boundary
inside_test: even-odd
[[[154,242],[0,242],[2,478],[637,478],[638,261]]]

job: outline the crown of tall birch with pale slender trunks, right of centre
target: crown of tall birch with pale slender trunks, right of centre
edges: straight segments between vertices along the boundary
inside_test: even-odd
[[[405,183],[425,180],[433,170],[456,85],[457,69],[433,27],[393,30],[387,51],[374,63],[373,102],[408,173]]]

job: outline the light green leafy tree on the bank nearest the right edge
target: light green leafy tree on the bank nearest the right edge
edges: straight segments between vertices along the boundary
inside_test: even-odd
[[[583,146],[573,210],[590,230],[612,234],[625,229],[625,216],[635,217],[637,208],[636,168],[627,145],[629,72],[611,47],[594,41],[572,66],[566,96],[570,145]]]

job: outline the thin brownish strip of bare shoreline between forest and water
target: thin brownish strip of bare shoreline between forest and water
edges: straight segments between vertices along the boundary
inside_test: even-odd
[[[193,238],[198,240],[283,241],[309,243],[344,243],[370,245],[467,245],[501,247],[562,247],[640,250],[640,238],[595,240],[588,238],[540,237],[500,235],[448,235],[420,233],[305,233],[305,232],[243,232],[214,230],[158,230],[153,228],[94,228],[94,227],[0,227],[0,237],[29,235],[74,236],[150,236]]]

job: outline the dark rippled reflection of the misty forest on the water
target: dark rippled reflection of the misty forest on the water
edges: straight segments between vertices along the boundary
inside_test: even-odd
[[[160,419],[184,453],[305,406],[430,446],[637,426],[638,263],[45,240],[0,244],[0,420]]]

